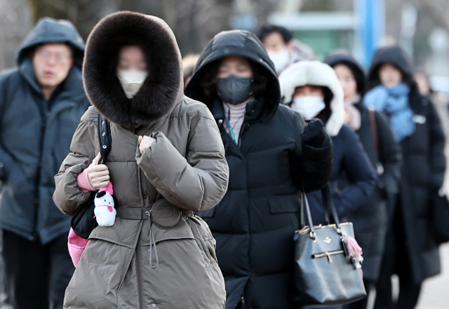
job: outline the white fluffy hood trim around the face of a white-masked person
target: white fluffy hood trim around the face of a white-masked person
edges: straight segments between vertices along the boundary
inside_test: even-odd
[[[281,95],[284,103],[293,99],[295,88],[303,85],[319,85],[328,87],[333,93],[330,102],[330,118],[326,123],[326,131],[330,136],[336,136],[344,123],[344,95],[342,85],[335,71],[319,61],[300,61],[292,64],[279,76]]]

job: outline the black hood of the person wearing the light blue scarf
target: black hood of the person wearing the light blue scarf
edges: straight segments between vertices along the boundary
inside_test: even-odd
[[[380,85],[379,68],[384,63],[393,64],[402,72],[403,81],[412,86],[413,81],[413,65],[406,52],[399,46],[388,46],[380,48],[374,54],[371,62],[370,71],[368,72],[369,89]]]

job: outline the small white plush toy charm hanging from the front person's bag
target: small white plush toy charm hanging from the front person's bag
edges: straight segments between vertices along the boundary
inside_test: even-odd
[[[105,188],[95,195],[95,218],[99,226],[113,226],[117,211],[114,208],[114,199],[112,198],[114,190],[112,184],[109,183]]]

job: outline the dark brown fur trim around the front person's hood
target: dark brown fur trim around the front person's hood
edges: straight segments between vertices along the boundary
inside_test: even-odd
[[[142,46],[149,74],[128,99],[116,77],[119,48]],[[118,12],[103,18],[86,43],[83,83],[91,103],[109,121],[125,128],[149,125],[168,114],[182,97],[181,53],[170,27],[154,16]]]

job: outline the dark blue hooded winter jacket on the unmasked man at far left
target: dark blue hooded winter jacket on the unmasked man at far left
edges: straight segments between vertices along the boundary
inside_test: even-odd
[[[30,53],[44,43],[67,43],[74,66],[45,99]],[[81,81],[84,42],[67,21],[43,18],[18,53],[16,69],[0,74],[0,228],[42,244],[67,234],[70,219],[51,199],[55,173],[69,153],[79,118],[89,107]]]

